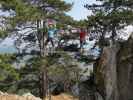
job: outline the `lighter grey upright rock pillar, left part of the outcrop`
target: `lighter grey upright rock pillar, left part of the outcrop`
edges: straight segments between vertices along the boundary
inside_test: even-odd
[[[118,100],[117,95],[117,71],[116,45],[105,47],[95,69],[95,83],[97,90],[104,97],[104,100]]]

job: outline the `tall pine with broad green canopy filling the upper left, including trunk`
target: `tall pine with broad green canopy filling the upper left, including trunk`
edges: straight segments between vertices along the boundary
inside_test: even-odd
[[[65,11],[70,10],[71,4],[66,4],[62,0],[1,0],[2,10],[11,11],[12,16],[7,18],[10,23],[10,27],[7,27],[9,32],[22,31],[24,29],[31,29],[29,33],[34,34],[37,37],[40,49],[40,58],[45,56],[45,38],[46,38],[46,19],[56,19],[57,15],[63,14]],[[56,15],[56,16],[55,16]],[[27,33],[27,32],[26,32]],[[24,34],[20,34],[18,40],[23,39]],[[33,38],[28,39],[31,44],[34,44]],[[43,85],[41,86],[42,96],[47,94],[47,66],[41,66],[44,68],[40,71],[42,74],[41,80]],[[40,80],[40,81],[41,81]]]

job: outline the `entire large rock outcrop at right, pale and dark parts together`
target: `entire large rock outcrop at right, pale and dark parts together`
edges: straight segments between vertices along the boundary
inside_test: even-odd
[[[133,35],[125,43],[105,47],[94,68],[104,100],[133,100]]]

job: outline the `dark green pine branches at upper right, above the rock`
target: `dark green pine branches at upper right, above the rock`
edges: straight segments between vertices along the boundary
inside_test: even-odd
[[[133,20],[132,0],[98,0],[99,4],[86,4],[85,7],[92,11],[88,17],[88,27],[94,28],[94,33],[104,39],[106,33],[111,35],[113,41],[118,30],[131,25]]]

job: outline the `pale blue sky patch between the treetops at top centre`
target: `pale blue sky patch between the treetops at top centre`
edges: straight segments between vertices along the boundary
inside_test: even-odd
[[[68,15],[72,16],[76,20],[86,19],[91,14],[89,10],[84,8],[85,4],[92,4],[95,0],[65,0],[67,3],[74,3],[71,11],[67,12]]]

